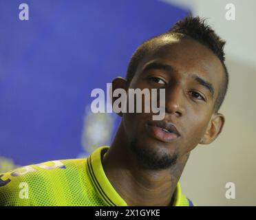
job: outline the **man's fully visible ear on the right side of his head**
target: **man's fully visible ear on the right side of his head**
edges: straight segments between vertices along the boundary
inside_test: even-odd
[[[211,120],[208,124],[204,137],[200,140],[200,144],[210,144],[222,132],[225,118],[221,113],[213,113]]]

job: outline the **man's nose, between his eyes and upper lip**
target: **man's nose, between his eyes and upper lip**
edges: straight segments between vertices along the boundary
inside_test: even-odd
[[[179,85],[165,89],[165,112],[177,117],[184,115],[184,92]]]

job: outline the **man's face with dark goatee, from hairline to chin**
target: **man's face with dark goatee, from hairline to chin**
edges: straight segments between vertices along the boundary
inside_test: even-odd
[[[163,121],[174,124],[180,133],[164,140],[165,131],[151,126],[153,113],[123,113],[131,148],[147,166],[167,168],[198,145],[212,123],[223,79],[217,56],[191,39],[173,39],[140,62],[129,88],[165,89]]]

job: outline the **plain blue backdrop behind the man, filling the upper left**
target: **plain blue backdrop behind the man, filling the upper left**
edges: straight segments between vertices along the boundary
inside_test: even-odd
[[[19,20],[21,3],[29,21]],[[136,47],[187,13],[157,0],[1,0],[0,8],[0,166],[3,158],[26,165],[86,151],[92,89],[125,76]]]

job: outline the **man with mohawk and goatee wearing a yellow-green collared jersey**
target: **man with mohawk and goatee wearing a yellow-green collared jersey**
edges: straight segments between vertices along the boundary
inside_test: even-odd
[[[165,114],[120,112],[114,142],[87,159],[0,175],[1,206],[193,206],[178,180],[198,144],[222,131],[228,86],[224,41],[198,17],[142,43],[112,89],[165,89]],[[113,97],[113,102],[116,98]],[[129,104],[129,103],[128,103]]]

